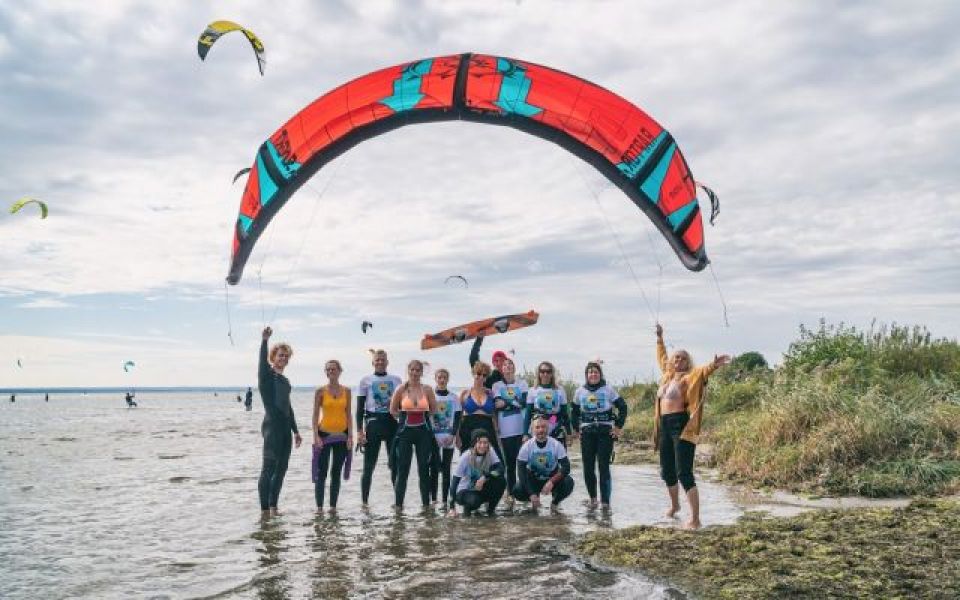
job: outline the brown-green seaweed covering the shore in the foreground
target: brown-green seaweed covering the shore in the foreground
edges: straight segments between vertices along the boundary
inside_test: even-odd
[[[960,503],[952,500],[751,513],[697,532],[632,527],[588,534],[577,546],[700,598],[960,597]]]

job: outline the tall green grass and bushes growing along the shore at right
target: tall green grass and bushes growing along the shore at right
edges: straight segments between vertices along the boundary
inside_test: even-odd
[[[736,365],[736,363],[735,363]],[[649,440],[655,384],[621,389],[627,442]],[[923,327],[801,328],[776,370],[751,358],[710,381],[701,443],[761,487],[881,497],[960,489],[960,345]]]

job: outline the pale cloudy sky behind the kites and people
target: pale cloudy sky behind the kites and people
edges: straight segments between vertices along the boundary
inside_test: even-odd
[[[392,370],[421,357],[466,383],[468,347],[423,353],[422,335],[530,308],[540,323],[490,338],[484,357],[512,348],[570,375],[601,357],[617,382],[653,373],[657,318],[700,360],[778,362],[821,317],[960,335],[956,2],[281,6],[0,6],[0,201],[51,211],[0,214],[0,388],[246,385],[265,322],[294,346],[301,385],[332,357],[357,381],[368,347]],[[239,35],[198,59],[216,19],[261,37],[265,77]],[[729,327],[710,271],[683,268],[589,166],[468,123],[402,128],[321,170],[228,310],[230,179],[260,143],[344,81],[465,51],[579,75],[671,131],[722,201],[706,235]]]

